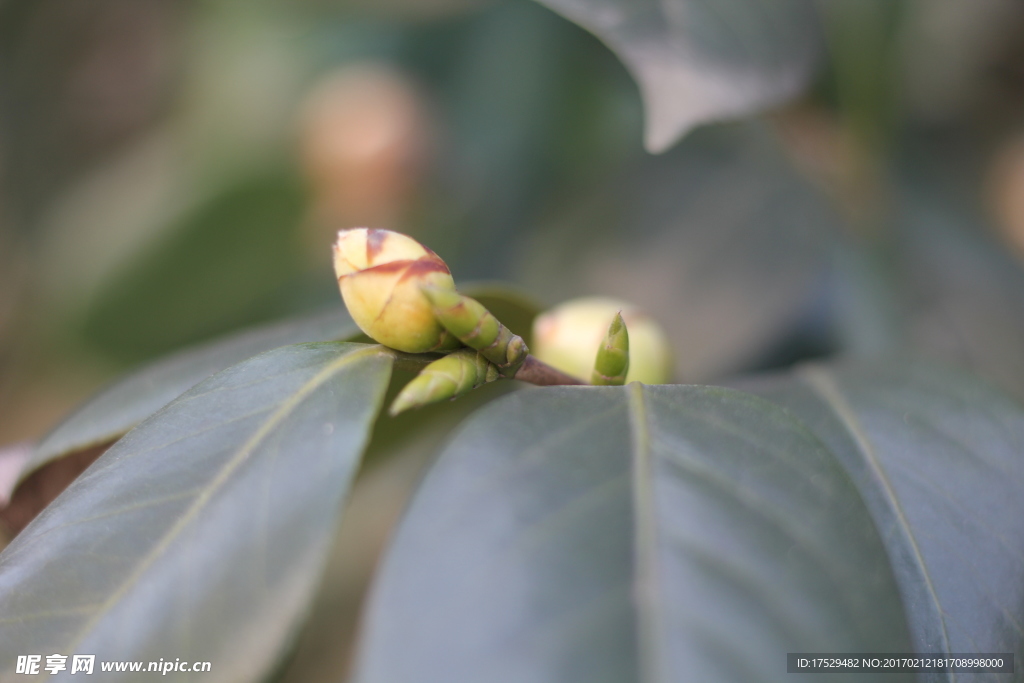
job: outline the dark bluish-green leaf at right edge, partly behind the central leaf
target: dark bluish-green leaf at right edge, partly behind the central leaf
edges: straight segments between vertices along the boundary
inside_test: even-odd
[[[969,376],[908,361],[812,367],[749,388],[799,415],[853,477],[882,529],[918,651],[1024,648],[1019,404]]]

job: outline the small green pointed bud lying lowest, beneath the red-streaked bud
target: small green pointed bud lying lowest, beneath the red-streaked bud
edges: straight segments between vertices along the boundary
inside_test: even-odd
[[[468,348],[460,349],[424,368],[398,393],[388,413],[393,417],[411,408],[455,398],[499,377],[498,369],[480,353]]]

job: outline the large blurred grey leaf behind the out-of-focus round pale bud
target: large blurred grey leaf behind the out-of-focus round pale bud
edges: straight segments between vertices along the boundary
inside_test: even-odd
[[[520,275],[555,299],[642,302],[678,377],[754,365],[821,305],[839,217],[759,124],[700,131],[639,156],[548,216]]]

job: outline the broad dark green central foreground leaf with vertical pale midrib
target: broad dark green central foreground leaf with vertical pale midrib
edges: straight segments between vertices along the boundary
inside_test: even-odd
[[[788,681],[787,651],[907,647],[868,511],[800,422],[729,389],[558,387],[441,456],[358,680]]]

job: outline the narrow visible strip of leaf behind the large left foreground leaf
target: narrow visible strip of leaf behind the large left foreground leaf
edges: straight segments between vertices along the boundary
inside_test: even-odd
[[[57,425],[36,446],[17,480],[51,460],[119,438],[198,382],[252,355],[357,333],[348,314],[339,309],[232,335],[158,360],[97,394]]]

